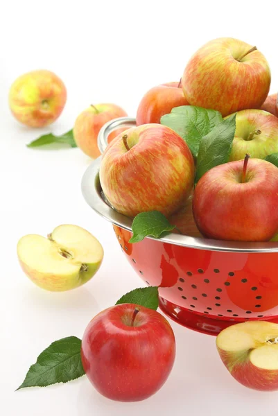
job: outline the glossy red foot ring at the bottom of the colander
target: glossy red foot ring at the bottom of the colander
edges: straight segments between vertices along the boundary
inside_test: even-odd
[[[182,308],[177,306],[168,300],[165,300],[163,297],[159,297],[159,308],[172,320],[182,325],[183,327],[193,329],[193,331],[198,331],[201,333],[207,333],[208,335],[217,336],[220,331],[230,327],[231,325],[238,324],[238,322],[245,322],[248,319],[239,319],[236,320],[225,320],[221,318],[207,318],[207,316],[202,315],[202,313],[196,313],[189,311],[189,309]],[[252,320],[252,319],[250,319]],[[278,323],[278,315],[265,317],[263,319],[268,322]]]

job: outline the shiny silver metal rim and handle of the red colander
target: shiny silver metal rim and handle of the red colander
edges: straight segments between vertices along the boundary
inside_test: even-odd
[[[101,154],[107,147],[107,137],[117,128],[127,126],[127,129],[136,125],[136,119],[131,117],[119,117],[112,121],[108,121],[103,125],[98,134],[98,148]],[[101,183],[99,180],[99,168],[101,166],[101,156],[95,159],[86,169],[81,183],[82,195],[87,204],[94,209],[94,211],[110,221],[110,223],[117,225],[123,229],[132,232],[132,218],[119,214],[115,209],[105,202],[102,195]],[[147,239],[155,239],[155,237],[148,236]],[[211,250],[218,252],[248,252],[248,253],[270,253],[278,252],[278,242],[262,242],[262,243],[247,243],[244,241],[225,241],[205,239],[200,237],[191,237],[180,234],[168,234],[159,239],[164,243],[174,245],[181,245],[186,248],[195,248],[198,250]]]

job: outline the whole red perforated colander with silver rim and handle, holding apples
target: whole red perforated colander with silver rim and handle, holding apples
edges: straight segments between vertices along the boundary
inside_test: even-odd
[[[116,128],[135,125],[121,117],[98,136],[103,153]],[[82,177],[82,193],[92,209],[109,220],[121,250],[146,285],[159,286],[159,307],[196,331],[217,335],[246,320],[278,322],[278,243],[245,243],[168,234],[128,243],[132,219],[107,204],[99,182],[98,157]]]

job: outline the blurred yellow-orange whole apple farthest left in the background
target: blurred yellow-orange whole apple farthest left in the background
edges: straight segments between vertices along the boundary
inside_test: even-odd
[[[40,128],[58,119],[67,101],[67,89],[55,73],[31,71],[12,83],[8,100],[17,121]]]

